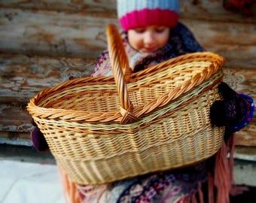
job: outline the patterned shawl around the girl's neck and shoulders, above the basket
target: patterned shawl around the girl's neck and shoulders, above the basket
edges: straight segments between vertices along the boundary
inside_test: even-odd
[[[130,62],[130,67],[136,66],[139,64],[139,62],[142,61],[144,56],[142,53],[139,53],[137,50],[134,50],[133,47],[130,46],[126,32],[122,32],[122,38],[123,45]],[[190,30],[187,29],[184,24],[178,23],[178,26],[171,30],[168,43],[160,50],[157,50],[155,53],[151,53],[151,59],[153,60],[147,61],[148,64],[145,65],[154,65],[168,59],[175,58],[176,56],[184,55],[186,53],[202,51],[203,48],[194,38],[192,32],[190,32]],[[101,56],[99,56],[96,67],[94,68],[94,71],[91,75],[93,77],[112,75],[109,54],[107,50],[105,50]]]

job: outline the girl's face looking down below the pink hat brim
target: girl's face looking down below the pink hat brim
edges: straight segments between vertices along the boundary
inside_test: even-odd
[[[159,50],[169,40],[169,27],[147,26],[128,31],[130,45],[140,53],[146,55]]]

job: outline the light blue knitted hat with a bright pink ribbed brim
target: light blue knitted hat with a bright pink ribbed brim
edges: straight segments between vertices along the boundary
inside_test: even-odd
[[[117,0],[117,15],[123,30],[145,26],[175,27],[178,0]]]

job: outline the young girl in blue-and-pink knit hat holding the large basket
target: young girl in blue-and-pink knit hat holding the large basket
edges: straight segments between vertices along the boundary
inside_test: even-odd
[[[178,11],[177,0],[117,1],[123,45],[133,71],[140,71],[185,53],[203,51],[190,30],[178,23]],[[99,57],[92,76],[111,74],[108,51],[105,51]],[[251,98],[237,95],[224,83],[220,86],[220,93],[224,101],[212,106],[212,123],[241,129],[245,125],[236,124],[245,123],[252,117]],[[229,109],[233,109],[236,114],[230,113]],[[227,135],[227,139],[229,137]],[[208,182],[212,183],[214,168],[215,157],[212,157],[187,168],[146,174],[116,183],[76,185],[76,189],[83,202],[203,202],[207,201],[209,192],[203,195],[202,184],[207,186]],[[228,184],[224,183],[224,186]],[[229,202],[229,191],[221,189],[224,192],[222,197],[219,195],[218,203]],[[209,198],[212,199],[212,195]]]

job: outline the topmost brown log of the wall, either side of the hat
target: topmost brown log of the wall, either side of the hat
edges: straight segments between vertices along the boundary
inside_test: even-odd
[[[181,0],[180,14],[181,18],[197,20],[215,20],[239,23],[254,23],[256,16],[245,17],[241,14],[234,14],[223,8],[223,0]],[[2,8],[21,8],[29,10],[63,11],[67,13],[80,13],[89,15],[105,15],[116,17],[116,0],[80,0],[80,1],[62,1],[62,0],[2,0]],[[256,6],[252,7],[256,14]]]

